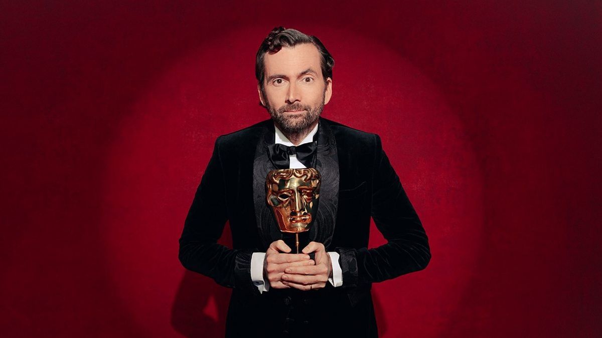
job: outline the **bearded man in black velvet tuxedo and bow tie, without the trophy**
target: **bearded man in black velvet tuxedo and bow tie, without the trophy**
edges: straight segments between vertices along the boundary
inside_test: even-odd
[[[272,118],[217,138],[194,196],[179,260],[233,288],[227,337],[377,337],[371,283],[429,263],[426,233],[380,138],[320,117],[333,66],[318,38],[273,29],[256,58]],[[306,167],[320,172],[320,206],[296,254],[266,203],[265,177]],[[388,241],[372,249],[370,217]],[[217,244],[226,221],[232,249]]]

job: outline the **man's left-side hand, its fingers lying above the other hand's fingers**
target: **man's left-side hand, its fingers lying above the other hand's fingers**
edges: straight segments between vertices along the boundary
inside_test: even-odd
[[[289,254],[290,252],[291,248],[289,248],[282,239],[272,242],[267,251],[265,251],[264,274],[267,276],[267,280],[270,281],[270,287],[275,289],[288,289],[291,286],[282,283],[282,274],[284,274],[285,269],[301,268],[314,265],[315,263],[313,260],[309,259],[309,255],[306,253]],[[309,252],[311,251],[308,251],[308,253]],[[328,254],[326,254],[326,256],[328,256]]]

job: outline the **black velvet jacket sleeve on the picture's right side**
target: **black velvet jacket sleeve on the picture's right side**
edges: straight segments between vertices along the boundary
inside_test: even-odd
[[[426,268],[429,240],[399,176],[374,135],[375,155],[371,216],[387,243],[377,248],[337,248],[343,286],[372,283]]]

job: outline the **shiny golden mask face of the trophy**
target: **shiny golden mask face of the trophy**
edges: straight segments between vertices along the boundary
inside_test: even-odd
[[[317,217],[320,173],[314,168],[278,169],[265,180],[267,204],[282,232],[304,232]]]

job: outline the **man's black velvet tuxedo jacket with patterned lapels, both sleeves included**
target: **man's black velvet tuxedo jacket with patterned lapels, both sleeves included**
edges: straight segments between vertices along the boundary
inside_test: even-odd
[[[322,220],[322,229],[330,233],[310,233],[308,240],[323,242],[327,251],[340,254],[343,286],[327,283],[318,290],[272,288],[263,293],[250,278],[251,255],[282,238],[275,221],[258,217],[267,208],[261,200],[265,191],[258,186],[264,187],[269,165],[257,160],[263,159],[262,143],[274,143],[273,121],[217,138],[179,239],[179,260],[185,268],[233,289],[227,337],[377,337],[371,283],[429,263],[426,233],[378,135],[324,118],[318,134],[318,146],[326,144],[318,154],[334,159],[328,167],[334,166],[335,174],[326,186],[336,190],[331,194],[335,214],[334,224],[326,224],[328,217]],[[318,162],[320,158],[324,159],[318,156]],[[320,192],[318,211],[322,197]],[[370,217],[388,242],[368,249]],[[233,248],[217,244],[226,221]]]

